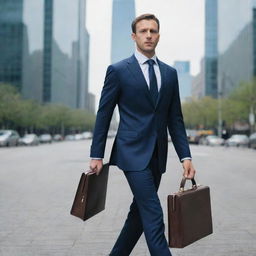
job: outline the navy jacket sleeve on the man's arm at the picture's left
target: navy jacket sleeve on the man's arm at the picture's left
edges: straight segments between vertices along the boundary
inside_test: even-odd
[[[107,69],[104,86],[101,92],[96,123],[93,132],[90,156],[93,158],[104,158],[106,140],[113,111],[119,98],[119,80],[110,65]]]

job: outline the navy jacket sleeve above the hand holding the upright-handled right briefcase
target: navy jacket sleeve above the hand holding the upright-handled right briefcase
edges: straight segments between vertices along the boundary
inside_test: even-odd
[[[168,114],[168,130],[179,159],[191,157],[183,115],[181,111],[177,72],[174,73],[174,87]]]

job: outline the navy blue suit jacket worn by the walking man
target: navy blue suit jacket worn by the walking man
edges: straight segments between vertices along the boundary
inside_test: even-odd
[[[159,60],[158,64],[162,82],[156,105],[134,55],[108,67],[96,117],[91,157],[104,157],[109,124],[116,105],[120,122],[111,152],[111,165],[125,171],[143,170],[157,144],[159,170],[165,172],[167,128],[179,158],[191,156],[181,112],[177,72]]]

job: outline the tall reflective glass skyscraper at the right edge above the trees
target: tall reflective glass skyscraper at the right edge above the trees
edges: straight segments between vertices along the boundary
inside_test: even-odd
[[[205,92],[226,97],[256,76],[256,1],[206,0]]]

